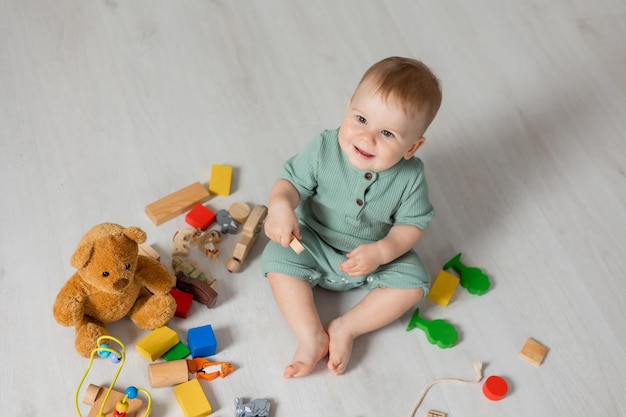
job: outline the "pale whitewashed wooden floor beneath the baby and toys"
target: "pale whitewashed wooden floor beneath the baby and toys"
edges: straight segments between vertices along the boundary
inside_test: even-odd
[[[285,381],[295,341],[260,275],[193,256],[218,279],[219,305],[170,326],[210,323],[236,371],[203,382],[213,415],[235,396],[265,397],[273,417],[406,416],[433,379],[472,379],[472,364],[510,384],[426,396],[449,416],[624,416],[626,394],[626,3],[566,0],[0,0],[0,403],[5,415],[73,413],[87,361],[56,324],[56,293],[76,244],[105,221],[136,225],[169,263],[184,216],[155,227],[146,204],[212,164],[236,169],[209,206],[265,204],[280,164],[336,127],[362,72],[389,55],[422,59],[444,104],[421,152],[437,217],[419,244],[432,274],[457,252],[493,288],[458,289],[422,314],[460,332],[442,350],[405,332],[410,313],[357,340],[348,372],[320,364]],[[324,318],[360,292],[317,294]],[[118,381],[148,387],[134,343]],[[518,357],[527,337],[543,365]],[[115,367],[98,361],[90,383]],[[155,416],[181,416],[172,390],[150,390]],[[83,408],[87,414],[87,408]]]

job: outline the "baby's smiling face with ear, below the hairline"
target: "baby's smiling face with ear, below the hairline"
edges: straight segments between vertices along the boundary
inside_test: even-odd
[[[339,128],[339,146],[350,164],[380,172],[411,158],[424,143],[423,115],[408,117],[393,97],[383,100],[362,84],[348,102]]]

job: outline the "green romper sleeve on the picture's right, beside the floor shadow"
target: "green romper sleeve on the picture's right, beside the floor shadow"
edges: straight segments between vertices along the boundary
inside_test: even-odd
[[[407,184],[406,192],[394,215],[394,224],[410,224],[426,230],[430,221],[435,217],[435,209],[428,199],[428,184],[424,175],[424,163],[413,158],[413,168],[417,175],[414,181]]]

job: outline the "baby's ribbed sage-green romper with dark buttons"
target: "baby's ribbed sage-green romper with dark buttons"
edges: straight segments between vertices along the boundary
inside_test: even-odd
[[[298,255],[270,241],[263,251],[263,274],[285,274],[338,291],[421,287],[428,293],[428,270],[414,250],[367,276],[339,270],[357,246],[384,238],[397,224],[426,229],[435,212],[420,159],[402,159],[382,172],[361,171],[341,151],[338,132],[322,132],[283,165],[280,178],[300,194],[296,215],[306,250]]]

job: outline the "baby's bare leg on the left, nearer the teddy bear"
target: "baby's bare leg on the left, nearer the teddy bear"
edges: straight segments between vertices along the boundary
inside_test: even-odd
[[[313,290],[307,281],[287,275],[268,273],[267,278],[281,313],[298,339],[298,349],[284,377],[306,376],[328,353],[328,334],[315,307]]]

